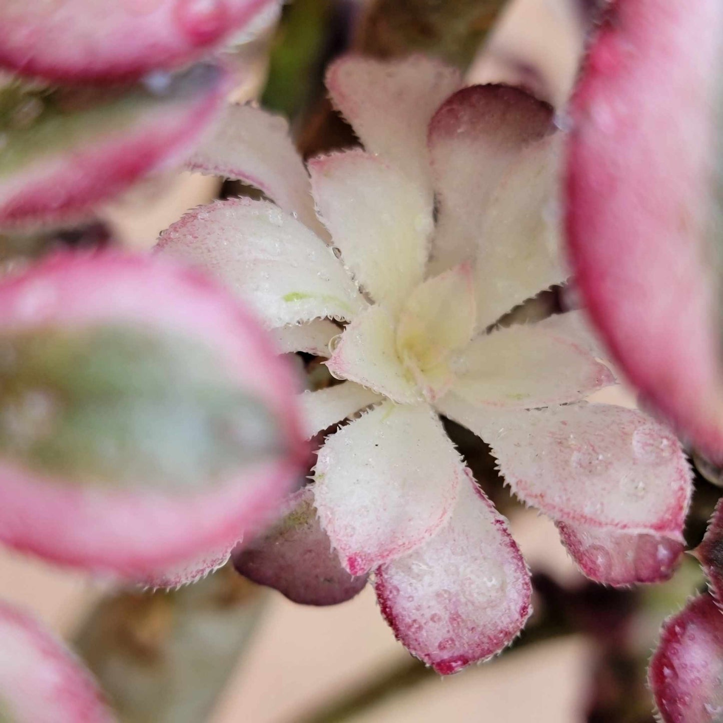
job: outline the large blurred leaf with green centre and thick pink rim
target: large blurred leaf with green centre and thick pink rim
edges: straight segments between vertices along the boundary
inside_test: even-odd
[[[0,539],[144,581],[258,529],[304,445],[291,369],[175,262],[60,254],[0,284]]]

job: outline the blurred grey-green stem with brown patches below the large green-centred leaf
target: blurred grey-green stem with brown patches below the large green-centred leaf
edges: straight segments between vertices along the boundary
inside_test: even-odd
[[[85,620],[76,648],[124,723],[200,723],[247,647],[265,591],[230,565],[177,591],[124,591]]]

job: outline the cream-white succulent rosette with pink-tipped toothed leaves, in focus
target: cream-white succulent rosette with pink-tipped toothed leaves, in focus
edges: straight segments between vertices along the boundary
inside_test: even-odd
[[[582,570],[605,583],[672,573],[690,474],[664,427],[586,402],[614,379],[578,312],[495,325],[566,278],[551,108],[513,87],[461,88],[455,71],[422,57],[346,57],[328,90],[365,150],[315,158],[309,178],[283,121],[232,106],[190,166],[275,203],[197,208],[158,251],[218,275],[280,351],[326,356],[341,380],[301,395],[307,436],[348,423],[325,440],[286,518],[239,552],[239,568],[317,604],[371,574],[396,636],[451,673],[514,638],[531,589],[440,415],[491,445],[515,494],[552,517]],[[346,577],[327,574],[330,554]]]

